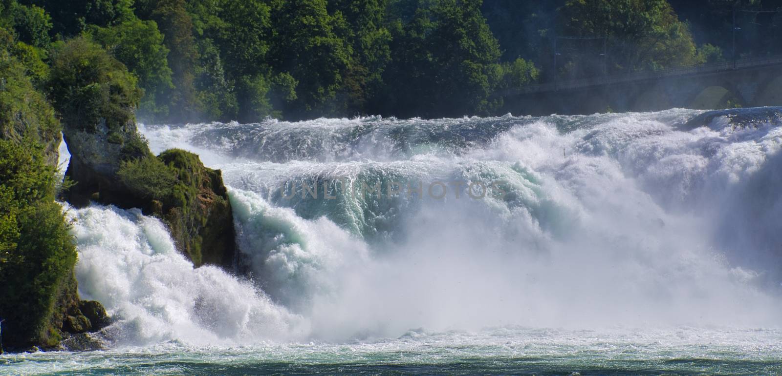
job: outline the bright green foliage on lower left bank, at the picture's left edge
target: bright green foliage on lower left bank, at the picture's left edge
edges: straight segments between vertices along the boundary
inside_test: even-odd
[[[53,346],[57,296],[73,277],[76,249],[54,200],[55,168],[43,147],[0,140],[0,317],[5,343]]]

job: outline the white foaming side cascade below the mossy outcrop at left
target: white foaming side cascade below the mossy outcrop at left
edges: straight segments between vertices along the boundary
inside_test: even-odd
[[[213,345],[306,334],[302,317],[271,303],[251,283],[210,266],[194,269],[156,218],[96,204],[68,213],[81,297],[99,300],[119,319],[109,339]]]

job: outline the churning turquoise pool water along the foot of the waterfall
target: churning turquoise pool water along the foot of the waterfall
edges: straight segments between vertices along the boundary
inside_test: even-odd
[[[398,339],[2,356],[8,374],[777,374],[779,331],[494,328]]]

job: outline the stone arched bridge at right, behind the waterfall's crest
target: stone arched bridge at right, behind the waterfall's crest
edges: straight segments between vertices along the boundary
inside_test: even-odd
[[[518,87],[499,93],[514,115],[782,105],[782,56]]]

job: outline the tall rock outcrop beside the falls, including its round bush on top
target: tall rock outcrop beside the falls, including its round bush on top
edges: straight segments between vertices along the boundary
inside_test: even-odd
[[[155,156],[137,132],[134,108],[139,94],[119,62],[88,41],[71,41],[55,53],[52,85],[55,107],[70,151],[66,177],[74,186],[66,200],[141,208],[170,229],[182,254],[198,267],[231,269],[235,256],[231,204],[220,170],[204,167],[187,151]],[[72,67],[92,76],[67,73]],[[74,76],[79,78],[76,80]],[[74,98],[77,97],[77,98]]]

